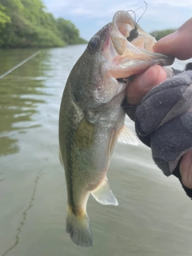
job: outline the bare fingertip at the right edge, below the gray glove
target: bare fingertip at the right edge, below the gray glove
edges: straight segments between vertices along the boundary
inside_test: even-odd
[[[182,183],[192,189],[192,150],[183,155],[179,170],[182,176]]]

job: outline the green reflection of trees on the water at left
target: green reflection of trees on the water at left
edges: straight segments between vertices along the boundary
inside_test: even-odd
[[[15,62],[22,61],[30,51],[24,50],[23,54],[21,54],[22,50],[0,51],[1,72],[5,68],[9,70]],[[41,125],[33,122],[32,117],[37,112],[37,106],[45,103],[42,97],[38,97],[38,95],[46,95],[42,92],[44,87],[42,62],[45,58],[45,54],[36,56],[33,60],[33,68],[30,69],[29,64],[26,63],[0,80],[0,145],[2,145],[0,155],[18,152],[17,139],[13,138],[15,130],[24,133],[26,129]]]

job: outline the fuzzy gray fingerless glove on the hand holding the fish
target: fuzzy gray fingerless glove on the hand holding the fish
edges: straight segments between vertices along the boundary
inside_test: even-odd
[[[166,176],[174,174],[182,183],[179,163],[192,149],[192,67],[173,70],[173,77],[160,83],[138,106],[123,102],[126,113],[135,122],[138,138],[150,146],[157,166]],[[192,198],[192,190],[182,184]]]

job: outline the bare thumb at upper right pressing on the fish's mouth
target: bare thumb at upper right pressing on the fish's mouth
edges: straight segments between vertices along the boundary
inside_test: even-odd
[[[184,60],[192,57],[192,18],[177,31],[167,35],[154,44],[154,52]]]

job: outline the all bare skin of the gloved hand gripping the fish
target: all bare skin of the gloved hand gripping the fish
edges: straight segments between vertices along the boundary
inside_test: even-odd
[[[178,59],[192,57],[192,18],[184,23],[176,32],[162,38],[154,45],[154,52],[173,55]],[[161,66],[151,66],[146,72],[138,74],[127,90],[127,101],[130,105],[138,105],[142,98],[154,86],[167,78],[166,71]],[[182,157],[180,162],[182,183],[192,189],[192,150]]]

